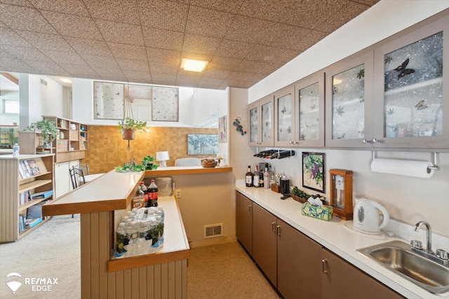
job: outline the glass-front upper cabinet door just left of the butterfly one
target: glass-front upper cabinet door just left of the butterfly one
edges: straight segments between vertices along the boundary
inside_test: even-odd
[[[373,137],[373,51],[326,69],[326,146],[362,147]]]

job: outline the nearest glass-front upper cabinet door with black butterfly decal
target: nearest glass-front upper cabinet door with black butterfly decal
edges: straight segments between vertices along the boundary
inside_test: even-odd
[[[375,48],[376,147],[449,148],[448,27],[427,20]]]

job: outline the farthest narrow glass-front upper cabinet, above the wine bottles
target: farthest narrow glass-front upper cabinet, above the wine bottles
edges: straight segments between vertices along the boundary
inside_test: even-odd
[[[274,106],[273,95],[248,105],[250,146],[273,146]]]

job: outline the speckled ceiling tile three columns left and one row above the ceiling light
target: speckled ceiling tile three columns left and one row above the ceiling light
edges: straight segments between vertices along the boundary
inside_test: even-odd
[[[92,18],[55,13],[53,11],[41,11],[41,13],[63,36],[102,40],[100,31],[98,31],[97,25],[95,25]]]

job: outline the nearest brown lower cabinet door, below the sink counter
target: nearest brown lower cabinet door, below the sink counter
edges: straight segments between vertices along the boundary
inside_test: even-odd
[[[342,260],[326,249],[321,249],[321,298],[403,298],[398,293],[373,279],[365,272]]]

